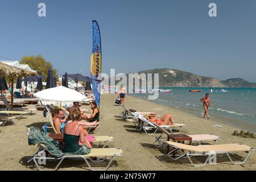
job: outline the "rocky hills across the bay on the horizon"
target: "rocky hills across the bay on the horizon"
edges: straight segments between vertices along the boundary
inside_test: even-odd
[[[243,80],[242,78],[231,78],[218,80],[214,77],[199,76],[194,73],[184,72],[177,69],[150,69],[140,71],[141,73],[159,73],[159,86],[176,87],[256,87],[255,83]],[[154,79],[153,79],[154,80]]]

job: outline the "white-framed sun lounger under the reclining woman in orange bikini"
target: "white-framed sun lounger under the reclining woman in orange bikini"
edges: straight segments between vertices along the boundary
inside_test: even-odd
[[[185,125],[182,124],[182,123],[175,123],[175,125],[167,125],[167,126],[161,125],[161,126],[159,126],[156,123],[152,123],[152,122],[148,121],[141,114],[138,114],[136,112],[134,113],[134,118],[140,119],[142,121],[142,122],[140,122],[138,124],[138,127],[137,127],[138,129],[137,130],[142,130],[143,129],[146,134],[149,134],[147,132],[148,130],[153,130],[153,133],[151,133],[151,135],[154,135],[156,133],[156,131],[158,131],[159,127],[163,127],[163,128],[168,129],[172,134],[179,134],[182,131],[183,127],[185,127]],[[172,130],[175,127],[179,127],[180,128],[177,133],[172,132]]]

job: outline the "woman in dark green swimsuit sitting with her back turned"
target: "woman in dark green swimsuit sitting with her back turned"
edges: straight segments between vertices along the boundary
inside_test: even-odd
[[[80,149],[80,144],[85,144],[88,148],[92,148],[85,136],[84,127],[79,125],[80,117],[80,111],[77,109],[74,110],[72,113],[73,121],[67,123],[63,129],[63,152],[76,152]]]

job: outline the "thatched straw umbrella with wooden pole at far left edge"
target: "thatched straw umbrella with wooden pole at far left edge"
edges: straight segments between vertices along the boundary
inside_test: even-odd
[[[0,62],[0,77],[9,77],[11,80],[11,110],[13,110],[13,85],[14,78],[35,76],[36,72],[28,71],[27,69],[12,67],[8,64]]]

